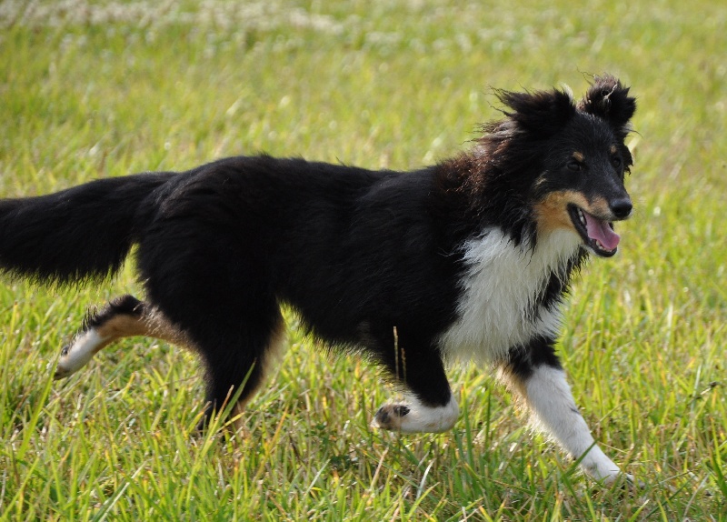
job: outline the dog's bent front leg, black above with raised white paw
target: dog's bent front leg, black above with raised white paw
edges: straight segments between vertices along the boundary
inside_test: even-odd
[[[440,433],[456,422],[459,407],[444,373],[442,358],[435,349],[416,343],[415,337],[397,332],[393,349],[380,354],[384,365],[404,386],[405,398],[403,403],[380,407],[372,427],[402,433]]]

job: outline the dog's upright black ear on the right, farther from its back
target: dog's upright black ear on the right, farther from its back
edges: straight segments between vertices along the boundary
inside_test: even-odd
[[[578,102],[578,110],[606,120],[619,134],[628,134],[628,124],[636,112],[636,98],[629,95],[612,75],[596,76],[593,85]]]

